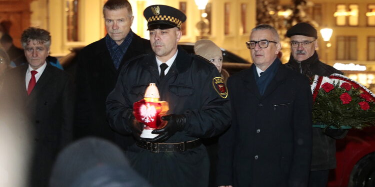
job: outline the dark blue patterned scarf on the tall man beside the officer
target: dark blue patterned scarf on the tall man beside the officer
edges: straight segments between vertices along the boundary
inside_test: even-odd
[[[129,47],[131,40],[133,39],[133,35],[134,33],[130,30],[120,45],[117,45],[117,43],[112,40],[108,34],[105,36],[105,44],[116,69],[118,69],[120,66],[122,57],[125,54],[127,47]]]

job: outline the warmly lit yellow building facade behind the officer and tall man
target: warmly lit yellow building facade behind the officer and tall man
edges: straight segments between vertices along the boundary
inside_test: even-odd
[[[102,6],[106,0],[33,0],[30,3],[31,26],[51,32],[51,54],[63,56],[69,48],[84,46],[105,36]],[[204,0],[199,0],[198,2]],[[167,4],[183,11],[181,42],[207,38],[218,46],[249,60],[245,46],[255,26],[255,0],[210,0],[199,10],[194,0],[129,0],[134,20],[131,29],[148,38],[143,10],[152,4]],[[201,14],[204,17],[201,17]]]

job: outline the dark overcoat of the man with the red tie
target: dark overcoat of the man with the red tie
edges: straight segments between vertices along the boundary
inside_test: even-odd
[[[18,121],[25,117],[34,130],[31,183],[46,187],[58,151],[71,141],[73,121],[73,85],[64,71],[47,63],[30,95],[25,75],[28,64],[10,69],[0,93],[1,115],[9,114]],[[5,108],[5,110],[4,110]],[[15,115],[16,114],[16,115]],[[30,132],[31,133],[31,132]]]

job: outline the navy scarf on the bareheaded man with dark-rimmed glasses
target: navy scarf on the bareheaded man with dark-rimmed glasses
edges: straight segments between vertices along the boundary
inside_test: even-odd
[[[268,84],[272,81],[274,75],[277,72],[278,66],[281,64],[281,61],[276,58],[272,64],[261,74],[261,76],[258,76],[258,73],[256,72],[256,67],[253,65],[252,69],[254,71],[254,77],[256,86],[258,87],[260,95],[264,94],[265,89],[267,88]]]

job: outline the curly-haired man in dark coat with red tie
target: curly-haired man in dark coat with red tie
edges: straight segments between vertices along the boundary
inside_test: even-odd
[[[66,72],[47,63],[50,42],[44,29],[24,30],[21,44],[28,64],[6,72],[0,90],[0,119],[33,130],[28,187],[47,186],[58,151],[71,140],[73,85]]]

